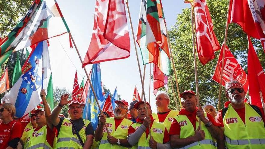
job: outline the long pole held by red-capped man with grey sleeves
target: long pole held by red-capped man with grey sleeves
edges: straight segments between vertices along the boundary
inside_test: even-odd
[[[129,14],[129,20],[130,20],[131,30],[132,30],[132,34],[133,34],[133,43],[134,43],[134,48],[135,48],[136,58],[137,58],[137,63],[138,63],[138,69],[139,69],[141,83],[142,83],[142,91],[143,91],[144,101],[145,101],[146,116],[148,116],[149,114],[148,114],[147,105],[146,105],[145,88],[144,88],[144,83],[143,83],[143,78],[142,78],[142,73],[141,73],[141,67],[140,67],[137,47],[136,47],[135,36],[134,36],[134,32],[133,32],[133,23],[132,23],[131,14],[130,14],[129,3],[128,3],[128,0],[125,0],[125,1],[126,1],[126,5],[127,5],[128,14]],[[150,126],[148,127],[148,129],[149,129],[149,132],[151,132]],[[151,133],[149,133],[149,135],[151,138],[152,137]]]

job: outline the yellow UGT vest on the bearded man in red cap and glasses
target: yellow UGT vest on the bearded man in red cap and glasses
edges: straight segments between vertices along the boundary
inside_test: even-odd
[[[108,117],[106,118],[106,125],[108,127],[108,131],[111,136],[117,138],[117,139],[127,139],[128,136],[128,129],[132,125],[132,121],[128,119],[123,119],[120,125],[115,129],[115,120],[114,117]],[[108,142],[107,138],[107,130],[104,127],[103,128],[103,136],[101,138],[100,144],[99,144],[99,149],[110,149],[110,148],[117,148],[117,149],[128,149],[128,147],[123,147],[121,145],[117,144],[110,144]]]

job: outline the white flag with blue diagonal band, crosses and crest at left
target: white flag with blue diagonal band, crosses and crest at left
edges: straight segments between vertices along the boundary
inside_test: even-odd
[[[49,64],[47,42],[39,42],[30,53],[22,67],[22,74],[10,91],[5,94],[2,101],[14,104],[17,117],[22,117],[34,109],[40,102],[40,90],[42,85],[42,69],[51,70]],[[48,72],[44,72],[44,82],[48,81]],[[50,74],[50,73],[49,73]],[[47,85],[44,86],[47,90]]]

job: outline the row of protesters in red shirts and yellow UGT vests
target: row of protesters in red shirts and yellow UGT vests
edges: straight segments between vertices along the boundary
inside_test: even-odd
[[[115,101],[114,117],[103,112],[94,131],[82,118],[85,103],[68,101],[61,95],[51,111],[41,90],[42,109],[33,111],[30,120],[17,119],[13,104],[0,107],[0,149],[262,149],[265,148],[263,109],[244,102],[242,84],[226,84],[225,108],[216,111],[212,104],[198,105],[191,90],[180,94],[182,108],[170,110],[166,92],[156,95],[157,111],[144,101]],[[68,106],[69,118],[60,114]],[[128,112],[131,117],[127,117]]]

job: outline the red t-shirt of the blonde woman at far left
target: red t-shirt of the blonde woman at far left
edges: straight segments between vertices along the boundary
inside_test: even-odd
[[[21,124],[16,120],[8,124],[0,122],[0,149],[8,147],[8,142],[14,138],[21,138]]]

